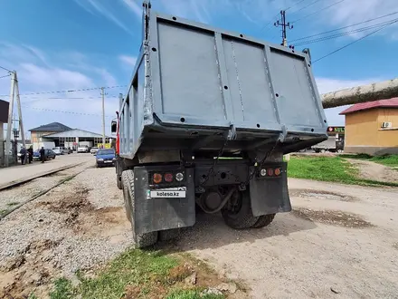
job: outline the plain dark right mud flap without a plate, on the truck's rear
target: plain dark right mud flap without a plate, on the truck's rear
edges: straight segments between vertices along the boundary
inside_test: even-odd
[[[250,182],[251,210],[253,216],[291,211],[287,163],[280,163],[280,177],[258,178]]]

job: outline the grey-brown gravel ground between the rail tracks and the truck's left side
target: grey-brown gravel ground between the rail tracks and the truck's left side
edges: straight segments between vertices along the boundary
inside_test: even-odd
[[[14,188],[15,198],[18,190],[25,192]],[[41,285],[53,277],[73,277],[117,256],[131,237],[115,169],[86,169],[27,203],[0,222],[0,236],[0,297],[4,288],[5,294],[34,289],[45,297]]]

